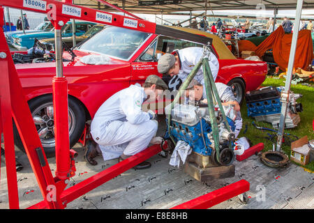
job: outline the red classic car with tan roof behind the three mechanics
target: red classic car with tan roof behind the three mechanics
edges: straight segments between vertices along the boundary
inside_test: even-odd
[[[218,57],[220,70],[216,82],[232,86],[241,101],[246,91],[257,89],[267,74],[267,64],[236,59],[225,44],[210,33],[172,26],[195,35],[213,39],[212,50]],[[63,74],[68,79],[70,146],[80,139],[86,121],[94,118],[98,107],[111,95],[130,84],[142,84],[148,75],[158,74],[157,54],[173,49],[200,46],[186,40],[109,26],[93,38],[73,49],[73,62],[63,62]],[[103,65],[82,63],[83,56],[106,55]],[[67,52],[64,59],[71,59]],[[55,63],[16,64],[33,121],[47,157],[54,155],[54,112],[52,77]],[[23,150],[15,131],[15,144]]]

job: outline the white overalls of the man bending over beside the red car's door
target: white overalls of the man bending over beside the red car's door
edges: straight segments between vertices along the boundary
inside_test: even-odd
[[[179,70],[179,78],[184,82],[186,77],[193,70],[195,65],[200,61],[203,55],[202,47],[188,47],[184,49],[175,50],[179,54],[179,59],[181,61],[181,69]],[[219,62],[215,54],[210,52],[209,54],[209,67],[211,68],[211,73],[214,80],[218,75]],[[201,84],[204,84],[203,68],[200,67],[200,70],[196,73],[194,79]]]

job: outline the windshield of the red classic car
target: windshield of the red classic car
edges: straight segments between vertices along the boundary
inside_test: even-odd
[[[77,49],[128,59],[149,35],[149,33],[130,29],[107,27]]]

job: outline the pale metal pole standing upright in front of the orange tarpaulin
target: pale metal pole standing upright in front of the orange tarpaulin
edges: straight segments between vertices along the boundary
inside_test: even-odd
[[[296,16],[294,20],[294,30],[293,30],[293,36],[292,36],[292,43],[291,43],[291,49],[290,49],[290,57],[289,57],[289,63],[287,68],[287,78],[285,79],[285,91],[282,91],[281,93],[281,119],[279,122],[278,127],[278,133],[277,133],[277,147],[276,151],[281,151],[281,145],[283,143],[283,132],[285,128],[285,117],[287,113],[287,105],[289,102],[289,96],[290,96],[290,85],[292,81],[292,70],[294,66],[294,56],[295,56],[295,50],[297,49],[297,40],[299,35],[299,24],[301,20],[301,13],[302,13],[302,5],[303,0],[297,1],[297,11]]]

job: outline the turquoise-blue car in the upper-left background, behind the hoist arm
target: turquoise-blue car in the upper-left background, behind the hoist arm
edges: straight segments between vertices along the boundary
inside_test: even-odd
[[[93,22],[75,22],[75,35],[82,36],[95,24],[96,23]],[[67,22],[66,25],[62,27],[61,33],[62,37],[73,36],[72,22]],[[29,49],[33,47],[35,38],[38,40],[42,40],[45,38],[54,38],[54,29],[44,32],[15,34],[13,35],[13,47],[20,50]]]

